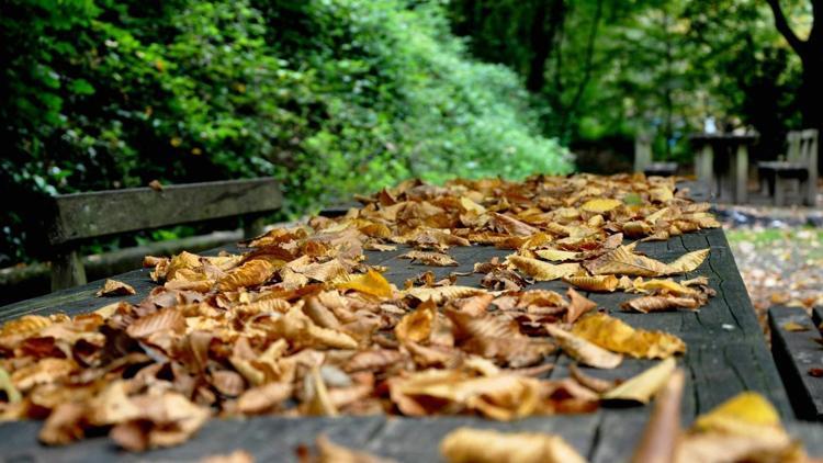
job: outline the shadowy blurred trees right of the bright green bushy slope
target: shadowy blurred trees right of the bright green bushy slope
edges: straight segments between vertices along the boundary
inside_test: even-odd
[[[781,4],[804,37],[811,2]],[[623,139],[630,158],[644,131],[655,135],[657,157],[688,160],[687,135],[713,116],[754,126],[755,156],[775,156],[786,131],[800,127],[800,59],[767,2],[452,0],[449,12],[474,55],[523,79],[542,75],[531,90],[545,108],[544,133],[575,149],[600,144],[602,155]]]

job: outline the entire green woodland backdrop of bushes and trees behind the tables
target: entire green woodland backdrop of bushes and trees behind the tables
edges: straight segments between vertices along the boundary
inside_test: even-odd
[[[31,259],[38,194],[274,176],[294,216],[408,177],[628,170],[639,131],[688,162],[709,116],[774,157],[821,121],[821,9],[4,0],[0,267]]]

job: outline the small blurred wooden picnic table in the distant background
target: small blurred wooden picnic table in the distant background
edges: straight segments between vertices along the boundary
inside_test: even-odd
[[[695,173],[710,185],[710,194],[744,204],[748,199],[748,148],[757,135],[694,134],[689,140],[697,149]]]

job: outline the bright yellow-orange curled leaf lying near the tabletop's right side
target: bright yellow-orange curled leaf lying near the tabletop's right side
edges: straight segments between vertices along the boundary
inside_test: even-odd
[[[572,334],[612,352],[641,359],[666,359],[686,352],[686,343],[663,331],[634,329],[606,314],[594,314],[578,320]]]

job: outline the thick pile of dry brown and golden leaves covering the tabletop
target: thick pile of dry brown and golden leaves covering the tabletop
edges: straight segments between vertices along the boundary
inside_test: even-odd
[[[173,445],[214,416],[475,414],[509,420],[647,402],[683,340],[635,329],[580,295],[625,291],[623,309],[698,309],[706,278],[676,281],[709,250],[670,262],[624,239],[665,240],[718,226],[675,189],[642,176],[526,182],[409,181],[335,219],[275,228],[243,255],[147,257],[158,286],[133,305],[29,315],[0,329],[0,416],[45,419],[63,444],[108,432],[121,447]],[[636,242],[636,241],[635,241]],[[483,287],[431,273],[398,289],[364,251],[452,266],[455,246],[510,249],[478,262]],[[528,290],[563,279],[566,294]],[[108,282],[100,292],[127,294]],[[559,349],[612,369],[624,355],[666,359],[622,384],[544,379]]]

